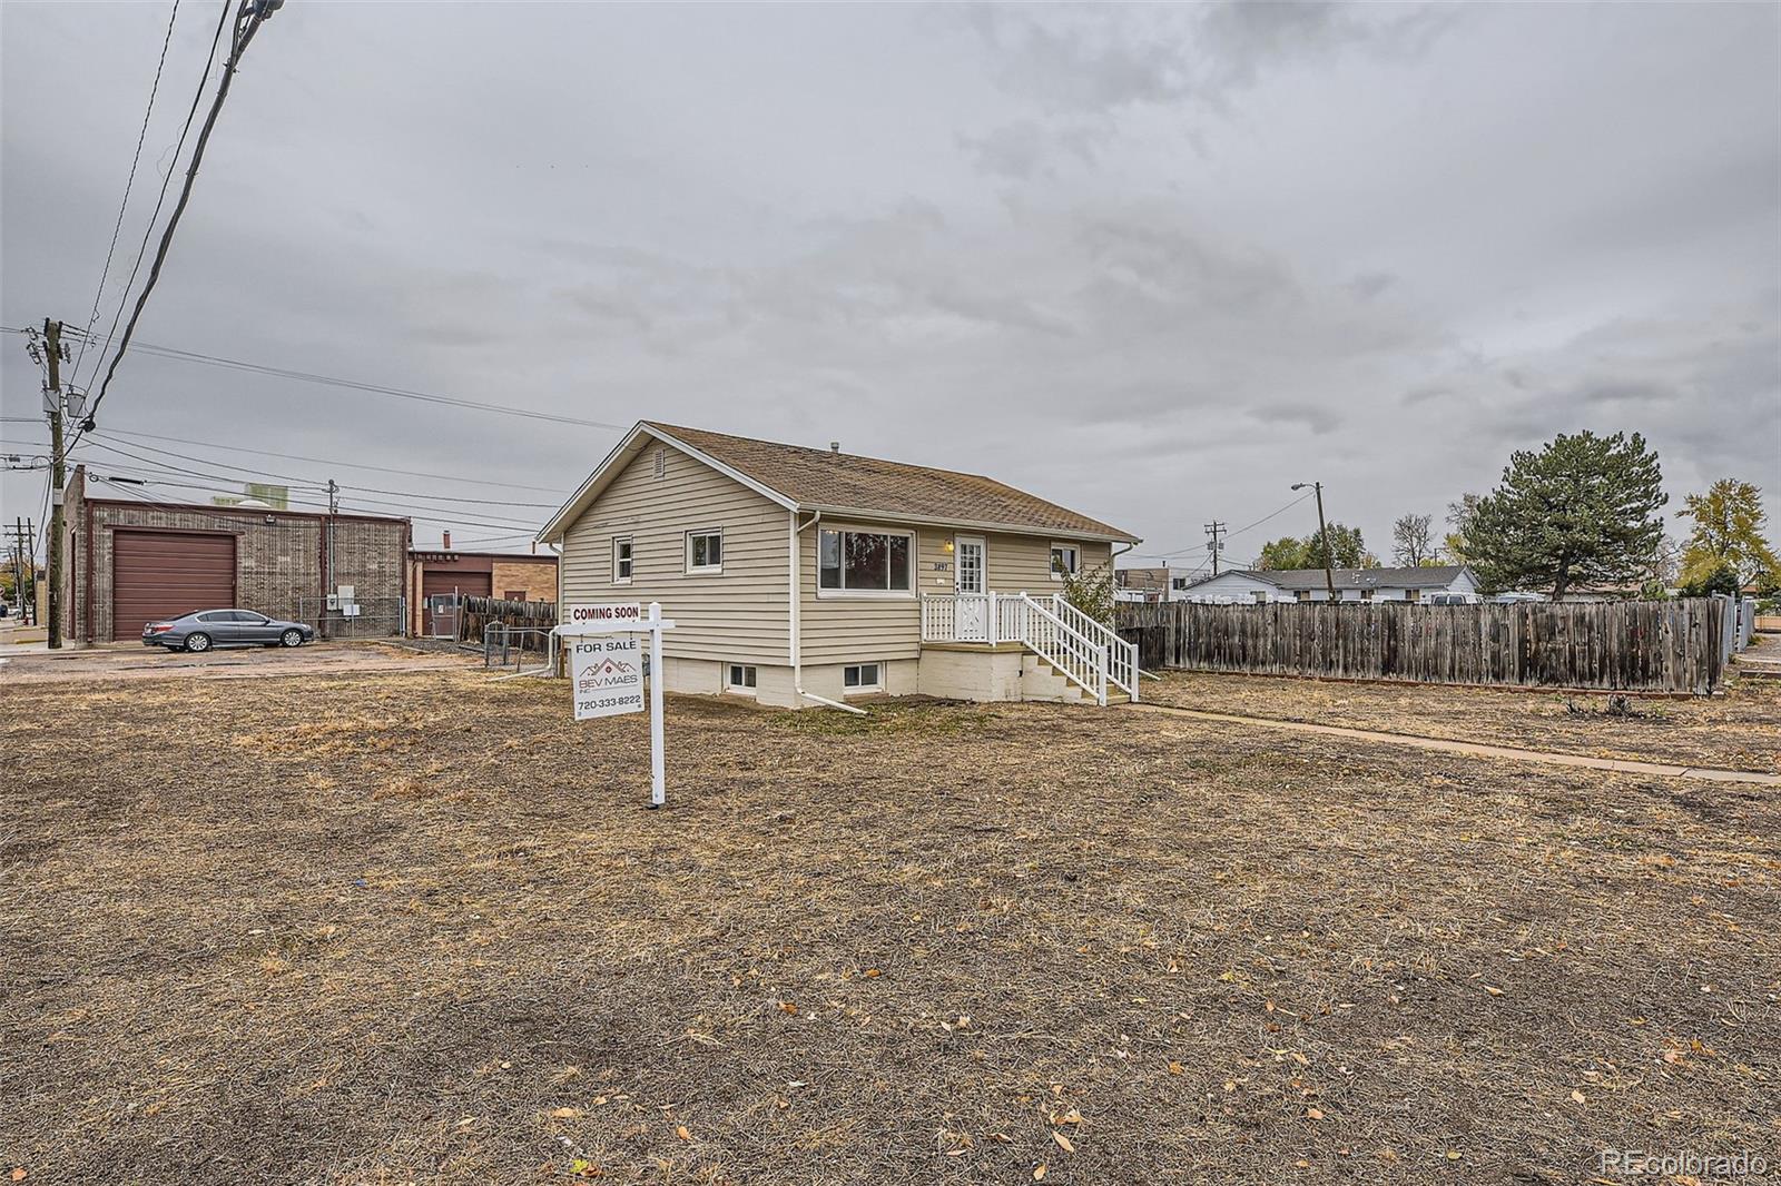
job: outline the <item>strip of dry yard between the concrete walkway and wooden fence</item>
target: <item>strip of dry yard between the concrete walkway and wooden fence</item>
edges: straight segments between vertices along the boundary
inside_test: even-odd
[[[1170,671],[1151,703],[1281,721],[1380,728],[1603,759],[1781,773],[1781,680],[1708,698],[1626,698],[1439,684],[1359,684]]]

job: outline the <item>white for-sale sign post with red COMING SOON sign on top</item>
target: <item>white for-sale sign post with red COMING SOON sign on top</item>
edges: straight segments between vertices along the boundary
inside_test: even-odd
[[[568,645],[570,691],[575,719],[620,716],[643,711],[643,662],[639,634],[650,636],[650,807],[666,801],[663,762],[663,618],[661,602],[648,616],[638,602],[565,605],[557,638]]]

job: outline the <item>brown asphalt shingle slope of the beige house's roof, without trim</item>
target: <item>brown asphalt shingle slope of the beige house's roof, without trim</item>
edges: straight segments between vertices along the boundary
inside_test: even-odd
[[[768,490],[777,490],[798,506],[1136,541],[1131,532],[981,474],[782,445],[673,424],[648,422],[648,426]]]

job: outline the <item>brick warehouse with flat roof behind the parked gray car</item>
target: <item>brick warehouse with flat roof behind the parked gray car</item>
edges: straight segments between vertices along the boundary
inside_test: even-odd
[[[210,607],[308,621],[322,638],[403,634],[406,518],[91,499],[77,467],[62,522],[69,643],[139,641],[146,621]]]

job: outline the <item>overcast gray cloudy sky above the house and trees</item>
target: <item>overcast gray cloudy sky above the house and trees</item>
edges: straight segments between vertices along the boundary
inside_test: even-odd
[[[87,321],[167,11],[0,7],[5,326]],[[217,11],[182,5],[126,262]],[[114,276],[102,328],[118,299]],[[1580,427],[1646,433],[1672,508],[1736,475],[1781,516],[1781,9],[289,0],[141,338],[841,440],[1145,554],[1307,477],[1386,554],[1398,513]],[[36,411],[16,335],[0,383],[7,417]],[[102,420],[235,465],[216,445],[324,458],[258,463],[360,506],[556,502],[614,442],[148,354]],[[4,495],[36,515],[41,475]],[[545,511],[449,515],[459,543],[520,545]],[[1293,508],[1229,557],[1311,527]]]

